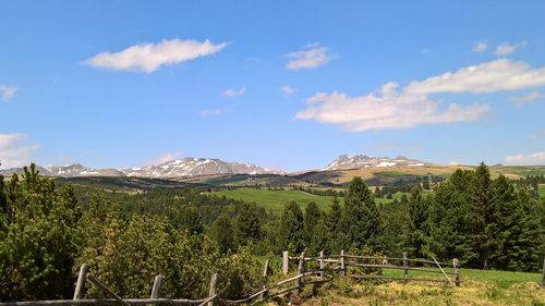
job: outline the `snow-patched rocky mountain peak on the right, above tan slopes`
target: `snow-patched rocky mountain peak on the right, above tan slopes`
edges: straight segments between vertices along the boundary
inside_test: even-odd
[[[348,170],[363,168],[387,168],[387,167],[423,167],[429,164],[415,159],[408,159],[403,156],[396,158],[372,157],[366,155],[347,156],[341,155],[322,171]]]

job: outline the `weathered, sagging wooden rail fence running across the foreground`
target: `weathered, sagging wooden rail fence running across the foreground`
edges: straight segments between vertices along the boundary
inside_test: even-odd
[[[293,277],[289,277],[290,260],[296,261],[296,270]],[[449,267],[452,271],[445,271],[444,267]],[[350,255],[342,250],[339,255],[325,256],[324,252],[320,252],[318,257],[305,257],[305,253],[303,252],[300,256],[290,257],[288,252],[283,252],[281,269],[282,273],[288,277],[287,279],[270,285],[265,285],[262,290],[240,299],[227,299],[218,295],[218,274],[211,276],[208,296],[202,299],[160,297],[160,287],[164,281],[162,276],[157,276],[155,278],[149,298],[122,298],[100,280],[94,277],[89,271],[89,267],[84,264],[80,269],[73,299],[8,302],[0,303],[0,306],[153,306],[161,304],[213,306],[252,304],[292,291],[301,292],[305,285],[316,285],[328,282],[332,279],[335,273],[350,277],[352,279],[400,280],[403,281],[403,283],[409,281],[444,282],[450,283],[452,286],[460,286],[461,283],[459,265],[456,258],[452,260],[452,264],[446,264],[437,262],[435,258],[434,261],[425,259],[410,259],[407,258],[407,254],[403,254],[402,258],[373,257]],[[403,270],[403,277],[383,276],[382,271],[386,269]],[[367,273],[365,273],[366,271]],[[410,276],[409,271],[439,274],[439,278],[415,278]],[[270,266],[269,260],[267,260],[265,262],[263,274],[267,278],[269,273]],[[107,298],[84,298],[87,281],[98,287],[107,296]]]

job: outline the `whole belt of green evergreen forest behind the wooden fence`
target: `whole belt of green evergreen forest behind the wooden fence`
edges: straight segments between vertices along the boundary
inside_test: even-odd
[[[330,208],[286,204],[280,216],[255,203],[196,188],[109,191],[58,184],[34,166],[0,178],[0,301],[71,298],[78,266],[88,264],[126,296],[150,291],[199,297],[221,271],[219,292],[238,297],[264,285],[258,256],[282,250],[458,258],[463,267],[538,271],[545,257],[545,198],[529,178],[493,179],[482,163],[457,170],[424,196],[420,185],[379,205],[354,178],[331,194]],[[90,295],[98,292],[89,292]]]

